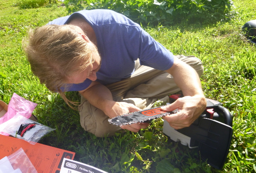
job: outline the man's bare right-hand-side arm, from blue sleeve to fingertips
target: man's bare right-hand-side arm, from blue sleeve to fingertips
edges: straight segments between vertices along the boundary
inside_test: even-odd
[[[199,117],[206,107],[206,99],[199,76],[192,67],[175,59],[173,66],[167,72],[173,76],[184,97],[162,107],[165,111],[180,110],[179,113],[163,117],[163,119],[167,120],[173,128],[181,129],[190,126]]]

